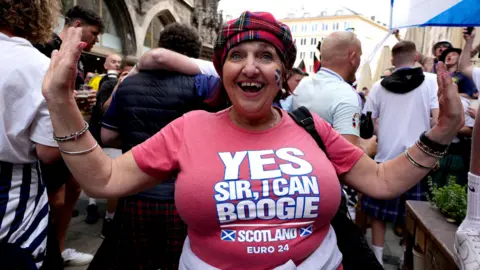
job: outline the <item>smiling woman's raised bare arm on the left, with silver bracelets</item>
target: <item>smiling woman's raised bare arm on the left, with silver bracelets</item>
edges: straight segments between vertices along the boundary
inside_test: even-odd
[[[43,81],[42,93],[47,100],[55,135],[59,137],[75,134],[85,126],[73,98],[77,61],[86,46],[80,41],[81,35],[81,28],[68,29],[60,51],[52,55]],[[59,142],[63,159],[90,196],[118,198],[153,187],[161,181],[140,170],[131,152],[112,160],[96,145],[88,131],[76,140]]]

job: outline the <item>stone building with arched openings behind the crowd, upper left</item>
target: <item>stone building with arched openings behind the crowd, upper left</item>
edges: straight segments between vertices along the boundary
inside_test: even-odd
[[[104,20],[105,33],[90,53],[86,69],[102,72],[103,59],[119,53],[138,59],[157,46],[160,31],[174,22],[195,27],[203,42],[202,58],[211,59],[216,32],[222,23],[218,0],[62,0],[62,11],[80,5],[96,11]],[[59,18],[60,31],[64,18]]]

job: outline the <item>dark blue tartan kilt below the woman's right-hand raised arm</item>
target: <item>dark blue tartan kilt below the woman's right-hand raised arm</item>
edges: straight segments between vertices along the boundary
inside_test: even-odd
[[[362,196],[362,211],[369,217],[385,222],[404,222],[406,201],[426,201],[428,192],[427,177],[413,186],[401,197],[393,200],[377,200],[367,195]]]

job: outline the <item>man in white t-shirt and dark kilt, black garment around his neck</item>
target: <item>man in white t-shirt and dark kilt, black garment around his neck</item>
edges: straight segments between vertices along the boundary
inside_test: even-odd
[[[364,107],[364,113],[372,112],[378,118],[378,163],[394,159],[415,144],[422,132],[430,129],[438,117],[437,77],[413,68],[416,60],[415,44],[400,41],[392,48],[392,64],[397,67],[391,76],[376,82]],[[404,196],[406,200],[425,200],[426,183],[419,183]],[[385,223],[402,219],[405,208],[400,198],[376,200],[362,198],[362,210],[372,220],[372,248],[382,263],[385,242]],[[403,219],[402,219],[403,220]]]

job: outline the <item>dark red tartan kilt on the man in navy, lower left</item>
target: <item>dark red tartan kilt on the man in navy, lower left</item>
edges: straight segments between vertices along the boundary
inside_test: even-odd
[[[173,201],[122,198],[113,222],[88,269],[178,269],[187,225]]]

